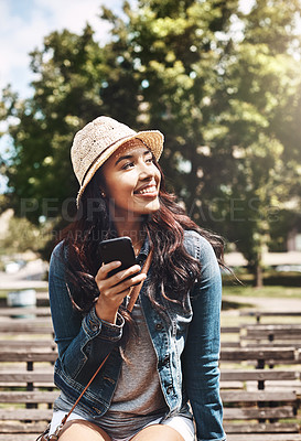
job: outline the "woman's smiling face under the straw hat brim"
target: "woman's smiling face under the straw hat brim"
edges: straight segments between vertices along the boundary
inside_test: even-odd
[[[128,218],[130,214],[139,216],[159,209],[161,173],[151,151],[139,139],[121,146],[104,163],[103,173],[115,217]]]

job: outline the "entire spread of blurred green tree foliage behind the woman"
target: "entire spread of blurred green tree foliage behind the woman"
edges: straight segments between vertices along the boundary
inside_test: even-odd
[[[258,270],[277,211],[300,200],[299,0],[257,0],[248,12],[238,0],[138,0],[103,19],[112,24],[106,45],[89,26],[54,32],[31,55],[33,96],[3,96],[1,117],[17,118],[14,206],[36,198],[36,222],[43,198],[75,194],[73,135],[109,115],[165,135],[162,165],[187,212]]]

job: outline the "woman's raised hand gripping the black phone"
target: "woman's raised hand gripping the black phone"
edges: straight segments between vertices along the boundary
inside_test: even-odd
[[[133,265],[116,275],[108,277],[108,273],[120,267],[120,261],[104,263],[97,275],[95,281],[99,289],[99,297],[96,302],[96,314],[99,319],[110,323],[116,323],[118,308],[122,303],[125,297],[129,295],[131,287],[146,280],[147,275],[140,273],[139,265]],[[129,279],[128,279],[129,278]],[[126,280],[128,279],[128,280]]]

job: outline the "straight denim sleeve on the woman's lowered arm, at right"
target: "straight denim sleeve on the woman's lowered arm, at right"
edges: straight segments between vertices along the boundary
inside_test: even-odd
[[[183,353],[184,385],[196,423],[197,441],[225,440],[218,368],[221,270],[206,239],[194,234],[193,244],[191,254],[200,259],[202,273],[191,292],[193,319]]]

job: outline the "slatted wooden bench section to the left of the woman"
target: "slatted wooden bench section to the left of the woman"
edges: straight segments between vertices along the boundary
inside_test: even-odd
[[[0,406],[4,405],[0,408],[0,440],[19,441],[25,433],[34,440],[46,427],[58,396],[53,384],[56,357],[53,346],[24,348],[21,343],[0,347]]]

